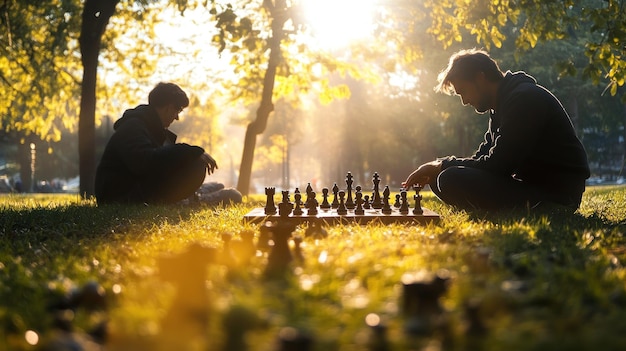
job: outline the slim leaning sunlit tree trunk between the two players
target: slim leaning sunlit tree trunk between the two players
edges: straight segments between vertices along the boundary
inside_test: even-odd
[[[284,36],[283,25],[285,23],[285,1],[277,1],[276,5],[269,5],[270,1],[265,1],[272,15],[272,37],[269,39],[270,57],[267,70],[263,78],[263,92],[261,104],[256,112],[256,119],[246,129],[246,136],[243,144],[243,154],[239,167],[239,180],[237,190],[246,196],[250,192],[250,180],[252,178],[252,161],[254,160],[254,149],[256,147],[257,135],[265,131],[270,113],[274,110],[272,95],[274,93],[274,80],[276,78],[276,68],[280,63],[281,52],[280,42]]]

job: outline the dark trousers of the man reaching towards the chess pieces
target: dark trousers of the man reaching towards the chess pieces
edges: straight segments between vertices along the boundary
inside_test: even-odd
[[[510,176],[463,166],[445,169],[430,188],[443,202],[466,210],[534,208],[543,202],[576,210],[582,197],[578,189],[567,193],[546,191]]]

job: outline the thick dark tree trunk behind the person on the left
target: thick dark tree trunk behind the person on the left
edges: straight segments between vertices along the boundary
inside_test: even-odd
[[[78,156],[80,194],[85,199],[94,195],[96,173],[95,120],[98,55],[102,34],[118,2],[119,0],[86,0],[83,9],[79,38],[83,81],[78,118]]]

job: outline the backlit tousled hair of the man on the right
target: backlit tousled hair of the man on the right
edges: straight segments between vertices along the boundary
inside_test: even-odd
[[[435,91],[454,95],[456,92],[452,86],[453,81],[471,81],[480,72],[491,82],[498,82],[504,76],[498,63],[487,52],[478,49],[458,51],[450,56],[448,67],[439,73],[437,77],[439,84]]]

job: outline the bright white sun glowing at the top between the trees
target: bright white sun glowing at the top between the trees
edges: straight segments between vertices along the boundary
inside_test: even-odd
[[[301,0],[313,41],[339,49],[372,35],[376,0]]]

